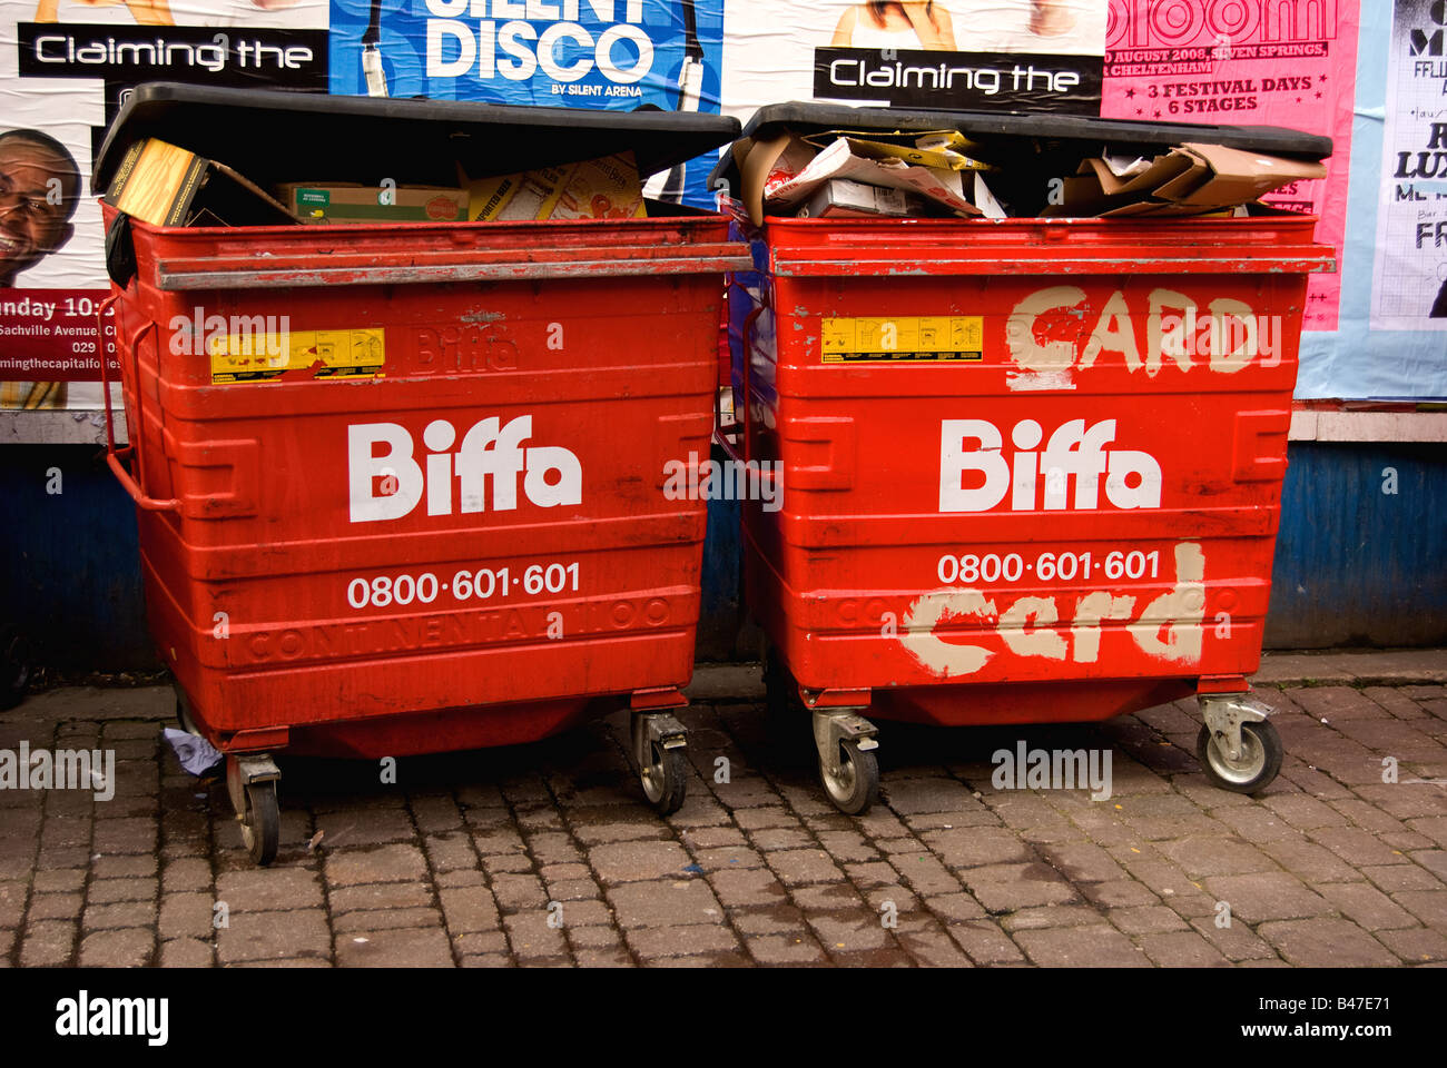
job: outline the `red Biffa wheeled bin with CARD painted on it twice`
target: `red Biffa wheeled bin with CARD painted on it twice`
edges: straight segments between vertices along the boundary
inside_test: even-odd
[[[1106,136],[1061,117],[816,104],[763,109],[745,136],[1030,139],[1040,124],[1062,158],[1071,137],[1094,146],[1074,161]],[[1127,132],[1147,145],[1226,137]],[[1229,133],[1330,153],[1307,135]],[[737,169],[721,175],[738,188]],[[835,805],[861,812],[877,793],[864,712],[1097,721],[1189,695],[1207,774],[1240,792],[1270,781],[1281,742],[1246,676],[1270,592],[1307,275],[1333,269],[1315,220],[755,227],[735,211],[754,255],[729,289],[737,459],[781,479],[773,507],[744,505],[747,603],[770,645],[770,705],[812,713]]]

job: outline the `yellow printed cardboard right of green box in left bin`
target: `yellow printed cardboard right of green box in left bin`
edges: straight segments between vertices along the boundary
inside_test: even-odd
[[[644,219],[642,182],[631,152],[467,182],[473,221]]]

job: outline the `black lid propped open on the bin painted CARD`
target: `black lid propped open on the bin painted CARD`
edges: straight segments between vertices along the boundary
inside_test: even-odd
[[[1017,175],[1074,174],[1075,165],[1110,148],[1121,155],[1159,155],[1182,142],[1224,145],[1288,159],[1320,161],[1331,155],[1331,137],[1279,126],[1210,126],[1140,119],[1094,119],[1027,111],[912,111],[849,107],[793,100],[758,109],[744,127],[745,137],[765,140],[786,129],[807,136],[828,130],[870,133],[959,130],[975,142],[972,156],[1014,169]],[[725,156],[709,175],[710,185],[737,177]]]

